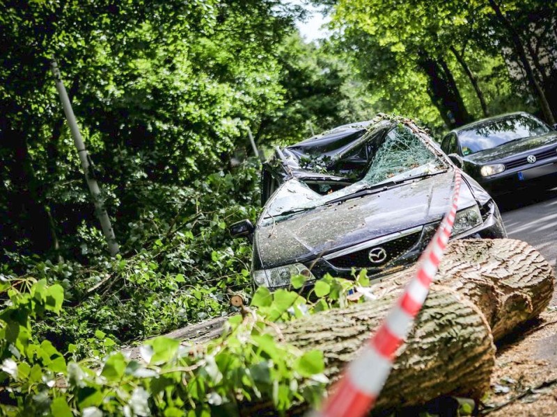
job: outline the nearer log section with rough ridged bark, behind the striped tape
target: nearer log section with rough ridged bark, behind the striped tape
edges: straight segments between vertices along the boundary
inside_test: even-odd
[[[334,380],[379,327],[396,297],[331,310],[281,326],[287,343],[324,354]],[[495,347],[481,311],[455,291],[433,286],[416,325],[397,352],[378,409],[421,404],[441,394],[480,398],[489,387]],[[373,370],[370,369],[372,373]]]

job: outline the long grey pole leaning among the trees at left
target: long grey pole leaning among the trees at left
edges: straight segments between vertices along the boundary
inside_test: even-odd
[[[93,204],[95,204],[95,213],[100,221],[100,227],[102,228],[102,233],[104,238],[107,239],[109,245],[109,251],[112,256],[120,252],[118,243],[116,242],[116,236],[114,236],[114,231],[112,229],[112,224],[110,222],[109,215],[102,204],[102,198],[100,196],[100,188],[97,184],[97,180],[91,175],[91,158],[88,156],[87,149],[81,138],[81,133],[79,133],[79,126],[77,126],[77,121],[75,120],[74,111],[72,110],[72,104],[70,98],[68,97],[68,92],[66,92],[64,84],[60,76],[60,70],[58,70],[58,65],[56,60],[53,58],[50,63],[50,69],[52,74],[54,74],[54,80],[56,81],[56,90],[58,90],[58,95],[60,95],[60,101],[62,101],[62,107],[64,109],[65,117],[68,120],[68,125],[70,126],[70,131],[72,132],[72,138],[74,139],[74,145],[77,148],[77,154],[79,155],[79,161],[81,161],[81,168],[83,168],[85,179],[87,181],[87,186],[89,187],[89,192],[91,197],[93,197]]]

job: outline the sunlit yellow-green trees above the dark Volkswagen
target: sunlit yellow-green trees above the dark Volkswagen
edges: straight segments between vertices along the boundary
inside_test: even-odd
[[[478,118],[540,110],[512,33],[491,5],[499,4],[556,113],[556,34],[550,29],[556,16],[547,1],[313,3],[331,10],[333,44],[367,83],[372,106],[413,115],[438,130],[441,120],[448,127],[466,122],[467,113]]]

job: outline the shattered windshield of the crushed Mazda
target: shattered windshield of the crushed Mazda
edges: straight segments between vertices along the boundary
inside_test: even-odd
[[[443,157],[443,154],[430,143],[432,139],[427,137],[426,140],[423,138],[423,134],[416,133],[416,131],[407,125],[393,124],[390,126],[390,128],[386,130],[386,134],[382,136],[382,147],[386,147],[388,137],[393,132],[395,132],[394,136],[398,136],[398,138],[392,137],[391,142],[400,140],[402,133],[401,131],[397,131],[397,129],[404,129],[403,132],[405,135],[410,134],[411,136],[409,136],[409,138],[416,140],[414,143],[412,143],[413,141],[409,143],[411,146],[416,147],[419,152],[422,152],[422,154],[416,154],[416,157],[421,157],[421,161],[414,161],[414,163],[409,161],[409,166],[402,167],[402,171],[400,172],[381,172],[382,175],[377,175],[377,172],[382,171],[377,169],[377,165],[379,164],[377,164],[376,157],[380,155],[378,151],[374,155],[374,158],[370,158],[368,167],[366,167],[366,172],[359,181],[325,195],[312,190],[304,183],[303,178],[288,179],[288,181],[285,181],[285,183],[283,183],[269,198],[267,204],[265,204],[265,208],[260,216],[260,224],[265,226],[270,222],[285,220],[298,213],[313,211],[315,208],[330,204],[331,202],[341,202],[344,199],[350,199],[351,196],[356,193],[362,195],[367,194],[362,193],[363,190],[369,190],[369,193],[374,193],[375,191],[380,192],[384,188],[388,188],[395,184],[404,183],[405,181],[419,181],[425,177],[430,177],[432,174],[440,174],[448,170],[450,164],[446,161],[446,158]],[[370,129],[365,136],[367,138],[373,138],[376,131],[377,129]],[[375,137],[377,138],[377,136]],[[365,140],[363,142],[365,142]],[[415,152],[416,149],[411,150]],[[386,149],[386,152],[388,151],[389,149]],[[382,154],[383,158],[385,158],[385,155],[389,155],[386,154],[386,152]],[[407,159],[409,159],[410,156],[414,156],[410,154],[409,151],[406,152],[408,152],[408,154],[405,155]],[[384,167],[379,168],[382,168],[383,171],[385,169]],[[391,167],[387,167],[387,169],[389,168]],[[312,172],[308,172],[308,176],[311,176],[311,174]]]

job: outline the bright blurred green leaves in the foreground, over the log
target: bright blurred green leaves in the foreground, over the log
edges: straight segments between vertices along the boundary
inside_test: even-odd
[[[304,286],[296,277],[293,286]],[[0,313],[0,411],[8,416],[205,416],[237,415],[243,402],[267,399],[278,411],[301,400],[315,403],[327,378],[322,352],[300,351],[276,343],[271,321],[345,306],[349,293],[368,286],[365,272],[356,281],[325,277],[307,298],[290,291],[253,297],[253,308],[228,319],[223,336],[206,345],[180,345],[167,337],[141,346],[142,361],[113,352],[97,368],[78,361],[77,347],[61,354],[36,337],[35,320],[61,312],[63,287],[45,279],[3,279],[9,296]],[[313,298],[313,301],[309,301]],[[354,299],[355,300],[355,299]],[[97,338],[111,345],[103,332]],[[95,370],[96,368],[96,370]]]

